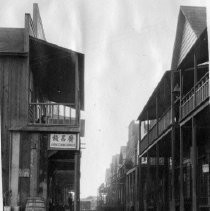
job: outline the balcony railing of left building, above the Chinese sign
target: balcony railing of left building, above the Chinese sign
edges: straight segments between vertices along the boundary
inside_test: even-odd
[[[30,103],[29,124],[78,126],[78,111],[69,103]]]

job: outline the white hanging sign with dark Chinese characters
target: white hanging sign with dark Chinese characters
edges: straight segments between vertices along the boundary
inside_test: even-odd
[[[51,150],[76,150],[78,140],[76,134],[50,134],[48,148]]]

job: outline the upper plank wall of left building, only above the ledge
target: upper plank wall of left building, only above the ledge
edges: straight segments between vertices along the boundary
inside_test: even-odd
[[[28,117],[27,58],[2,57],[0,69],[3,77],[3,119],[8,126],[24,126]],[[4,121],[3,121],[4,122]]]

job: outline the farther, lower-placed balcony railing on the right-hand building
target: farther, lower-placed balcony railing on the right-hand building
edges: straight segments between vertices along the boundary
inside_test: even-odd
[[[143,153],[164,131],[166,131],[171,123],[170,107],[140,141],[140,154]]]

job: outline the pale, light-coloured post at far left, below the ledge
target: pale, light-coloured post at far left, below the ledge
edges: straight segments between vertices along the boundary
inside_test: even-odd
[[[11,165],[11,183],[12,191],[11,205],[18,205],[18,184],[19,184],[19,161],[20,161],[20,133],[12,133],[12,165]]]

